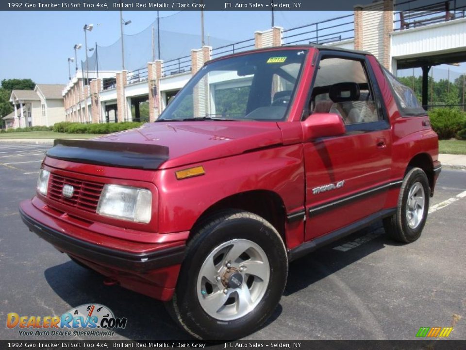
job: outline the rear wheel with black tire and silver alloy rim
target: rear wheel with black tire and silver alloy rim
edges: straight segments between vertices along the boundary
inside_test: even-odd
[[[403,178],[396,214],[383,219],[389,236],[401,243],[416,241],[426,224],[429,210],[430,187],[426,173],[410,168]]]

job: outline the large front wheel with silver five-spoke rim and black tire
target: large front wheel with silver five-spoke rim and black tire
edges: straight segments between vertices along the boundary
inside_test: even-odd
[[[288,260],[277,230],[260,216],[229,210],[196,230],[168,311],[202,339],[238,339],[272,315]]]

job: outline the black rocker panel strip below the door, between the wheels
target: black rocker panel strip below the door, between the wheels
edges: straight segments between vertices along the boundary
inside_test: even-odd
[[[348,225],[347,227],[337,229],[336,231],[323,235],[322,237],[317,237],[312,241],[303,243],[302,245],[299,245],[296,248],[288,250],[288,260],[293,261],[298,258],[301,258],[302,256],[316,250],[317,248],[320,248],[323,245],[328,245],[333,241],[348,236],[349,234],[356,232],[361,228],[369,226],[370,224],[373,224],[380,219],[393,215],[396,212],[397,208],[385,209],[375,214],[369,215],[364,219],[361,219],[351,225]]]

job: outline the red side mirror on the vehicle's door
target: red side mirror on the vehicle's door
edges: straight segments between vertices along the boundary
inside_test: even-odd
[[[346,133],[343,119],[336,113],[314,113],[301,123],[304,140],[339,136]]]

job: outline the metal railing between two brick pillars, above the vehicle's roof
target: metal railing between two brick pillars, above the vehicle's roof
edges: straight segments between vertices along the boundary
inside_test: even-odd
[[[354,14],[305,24],[283,31],[284,45],[328,44],[354,38]]]

